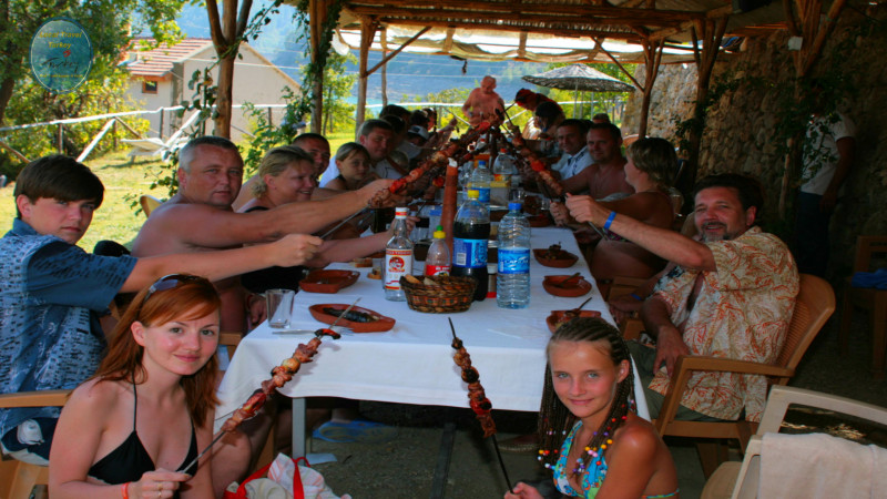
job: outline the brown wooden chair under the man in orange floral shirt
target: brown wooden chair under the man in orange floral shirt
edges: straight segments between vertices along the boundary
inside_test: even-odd
[[[727,358],[682,355],[677,358],[669,385],[669,394],[662,403],[659,418],[653,421],[660,435],[695,437],[705,439],[736,439],[744,449],[756,429],[756,424],[740,419],[736,421],[702,422],[679,421],[674,419],[686,384],[694,370],[742,373],[768,377],[771,385],[785,385],[794,376],[807,347],[819,333],[825,322],[835,310],[835,293],[823,278],[801,274],[801,292],[788,325],[785,344],[772,365],[733,360]],[[700,460],[705,477],[710,477],[718,464],[726,460],[726,448],[720,441],[697,444]]]

